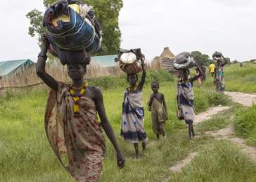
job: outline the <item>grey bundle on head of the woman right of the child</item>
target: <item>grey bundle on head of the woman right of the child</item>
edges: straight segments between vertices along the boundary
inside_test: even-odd
[[[181,52],[174,58],[174,69],[186,70],[195,66],[195,61],[189,52]]]

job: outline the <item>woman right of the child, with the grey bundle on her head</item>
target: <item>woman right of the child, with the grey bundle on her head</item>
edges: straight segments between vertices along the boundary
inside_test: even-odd
[[[199,73],[191,78],[189,69],[193,66],[196,66]],[[202,70],[189,52],[181,52],[175,57],[174,69],[177,69],[179,74],[177,83],[177,117],[179,120],[185,120],[188,125],[188,137],[192,139],[192,137],[195,137],[193,130],[193,121],[195,119],[193,82],[202,76]]]

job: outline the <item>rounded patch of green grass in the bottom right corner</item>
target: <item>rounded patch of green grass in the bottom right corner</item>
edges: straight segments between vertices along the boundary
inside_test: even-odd
[[[203,146],[191,164],[170,181],[255,181],[256,165],[229,141]]]

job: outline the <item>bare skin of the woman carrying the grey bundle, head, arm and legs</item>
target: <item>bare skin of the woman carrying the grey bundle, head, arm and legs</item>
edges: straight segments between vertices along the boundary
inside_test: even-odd
[[[181,78],[181,80],[183,81],[187,81],[189,80],[191,82],[191,84],[193,85],[193,82],[195,80],[197,80],[198,78],[200,78],[203,74],[203,71],[200,69],[200,66],[198,66],[198,64],[195,63],[196,69],[198,69],[198,74],[196,76],[193,76],[192,78],[188,79],[188,76],[190,75],[189,70],[184,70],[184,71],[179,71],[179,77]],[[193,121],[191,120],[187,120],[186,123],[188,123],[188,138],[192,139],[192,137],[195,137],[195,132],[193,129]]]

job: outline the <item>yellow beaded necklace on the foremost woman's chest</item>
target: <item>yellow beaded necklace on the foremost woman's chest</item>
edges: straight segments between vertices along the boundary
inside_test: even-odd
[[[84,82],[81,87],[74,87],[73,85],[70,85],[70,94],[72,96],[73,101],[75,102],[73,111],[75,115],[79,115],[79,99],[80,97],[86,92],[87,90],[87,82]],[[78,96],[75,94],[75,90],[79,90]]]

